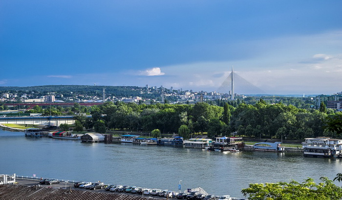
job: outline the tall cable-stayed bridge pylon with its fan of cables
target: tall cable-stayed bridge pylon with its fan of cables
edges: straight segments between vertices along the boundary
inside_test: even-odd
[[[232,79],[232,76],[234,77],[234,79]],[[234,89],[232,89],[232,85],[234,85]],[[217,89],[217,92],[219,93],[231,94],[230,91],[234,91],[235,94],[240,95],[266,95],[265,91],[250,83],[248,80],[245,80],[244,78],[236,74],[233,70],[229,74],[229,76],[222,82],[221,86]]]

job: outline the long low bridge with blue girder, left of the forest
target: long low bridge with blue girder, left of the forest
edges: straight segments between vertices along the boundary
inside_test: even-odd
[[[74,124],[75,119],[74,116],[0,117],[0,123],[59,126],[61,123]]]

